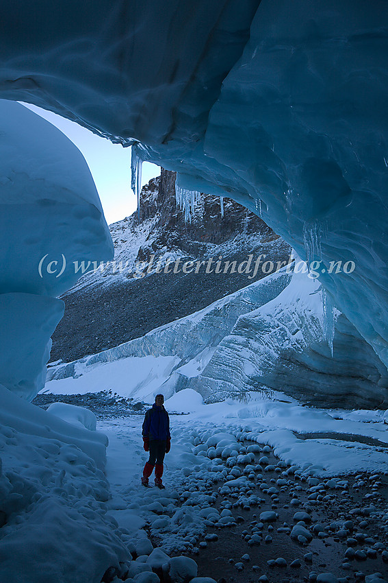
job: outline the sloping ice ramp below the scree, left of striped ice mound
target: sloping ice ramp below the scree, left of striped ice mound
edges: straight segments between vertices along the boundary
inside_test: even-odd
[[[103,382],[109,386],[105,385],[105,390],[127,391],[138,399],[151,395],[153,400],[153,393],[161,390],[162,385],[164,394],[171,396],[186,388],[187,379],[201,373],[222,338],[235,326],[237,318],[278,296],[290,278],[291,274],[283,268],[201,311],[160,326],[140,338],[78,361],[53,366],[47,372],[47,381],[53,381],[47,383],[47,388],[61,393],[62,379],[71,378],[78,381],[75,390],[85,392],[84,387],[86,391],[90,390],[90,374],[95,374],[96,383],[99,383],[99,377],[106,379]],[[116,361],[121,363],[121,381],[113,381],[109,371],[107,377],[103,376],[101,367]],[[94,386],[96,383],[92,382]]]

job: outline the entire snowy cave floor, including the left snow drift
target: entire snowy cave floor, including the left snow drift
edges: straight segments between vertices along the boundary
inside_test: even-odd
[[[324,411],[289,402],[281,394],[266,398],[257,393],[249,394],[246,403],[229,399],[205,405],[198,393],[182,390],[165,403],[172,447],[165,460],[166,489],[159,490],[140,486],[147,459],[142,415],[99,420],[93,431],[81,427],[93,427],[92,414],[85,409],[74,407],[72,412],[69,405],[57,405],[45,412],[8,390],[3,389],[1,396],[2,581],[99,583],[105,573],[107,581],[118,582],[115,577],[120,575],[127,581],[153,583],[157,577],[168,580],[170,573],[173,582],[196,583],[192,558],[201,565],[201,556],[213,541],[218,544],[224,532],[238,528],[235,512],[248,509],[257,512],[253,516],[260,515],[257,525],[250,523],[252,532],[244,535],[252,556],[261,540],[267,537],[269,545],[276,534],[267,520],[277,521],[277,532],[287,536],[296,554],[308,554],[310,544],[315,548],[322,537],[325,541],[335,537],[335,531],[345,532],[350,540],[354,533],[346,531],[348,516],[354,532],[361,535],[368,521],[369,527],[377,521],[382,530],[374,539],[362,535],[366,542],[355,543],[356,551],[363,556],[361,551],[369,549],[368,560],[376,555],[378,569],[368,564],[372,571],[366,574],[387,572],[386,485],[380,481],[388,475],[383,412]],[[309,433],[313,438],[306,438]],[[352,492],[363,490],[361,501],[353,501]],[[339,493],[345,510],[336,508]],[[292,501],[285,504],[282,497],[291,495]],[[291,525],[288,521],[282,527],[279,513],[286,511],[277,508],[291,509],[300,529],[292,530],[292,519]],[[330,508],[337,512],[335,524]],[[319,510],[328,516],[326,535],[320,531],[322,521],[313,518]],[[305,518],[296,511],[305,512]],[[293,536],[302,538],[292,542]],[[273,542],[265,549],[275,553],[279,545]],[[238,545],[233,550],[225,544],[232,558],[238,554]],[[172,558],[182,554],[185,558]],[[273,560],[283,555],[278,553]],[[240,562],[238,556],[233,558],[236,572]],[[152,567],[156,573],[151,573]],[[263,574],[269,568],[253,564],[249,572],[253,567]],[[189,574],[181,577],[179,569]],[[318,569],[321,574],[326,571]],[[326,580],[338,579],[318,579]]]

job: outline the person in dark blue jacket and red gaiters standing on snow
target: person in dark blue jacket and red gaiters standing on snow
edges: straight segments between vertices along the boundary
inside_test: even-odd
[[[142,475],[143,486],[149,486],[148,478],[155,467],[155,486],[164,488],[161,481],[163,475],[164,455],[170,451],[170,419],[164,408],[164,396],[157,394],[155,403],[148,409],[142,427],[144,451],[149,451],[148,462],[144,466]]]

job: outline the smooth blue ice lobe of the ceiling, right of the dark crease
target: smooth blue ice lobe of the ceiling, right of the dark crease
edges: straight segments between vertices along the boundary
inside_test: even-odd
[[[205,152],[266,202],[264,219],[301,257],[322,250],[320,281],[387,364],[388,14],[371,8],[261,2]],[[328,274],[331,261],[356,268]]]

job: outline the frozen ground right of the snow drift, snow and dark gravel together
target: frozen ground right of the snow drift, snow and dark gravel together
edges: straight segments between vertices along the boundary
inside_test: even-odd
[[[192,390],[174,394],[166,401],[165,490],[140,486],[141,412],[115,417],[114,399],[101,405],[97,430],[109,439],[112,495],[106,516],[135,559],[122,563],[129,580],[156,581],[153,556],[161,580],[174,556],[194,559],[198,576],[220,582],[388,580],[383,412],[323,411],[277,398],[252,393],[246,403],[204,405]]]

